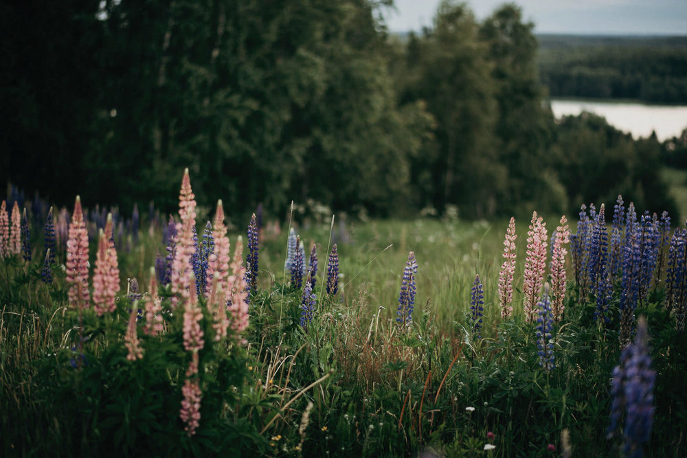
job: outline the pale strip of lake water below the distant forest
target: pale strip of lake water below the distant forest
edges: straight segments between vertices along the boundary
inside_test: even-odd
[[[629,102],[590,102],[587,100],[551,100],[556,117],[579,115],[589,111],[606,118],[619,130],[629,132],[635,139],[649,137],[655,130],[660,141],[677,137],[687,128],[687,106],[645,105]]]

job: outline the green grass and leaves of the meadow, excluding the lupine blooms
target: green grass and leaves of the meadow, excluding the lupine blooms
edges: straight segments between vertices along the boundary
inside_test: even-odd
[[[550,233],[557,218],[547,219]],[[666,310],[665,263],[629,315],[633,328],[644,329],[634,321],[640,315],[648,321],[646,356],[656,374],[648,411],[642,398],[653,421],[644,442],[631,426],[623,430],[625,415],[609,436],[612,400],[635,402],[611,396],[621,301],[627,304],[620,277],[608,305],[611,319],[599,321],[596,297],[573,281],[568,254],[565,314],[541,339],[541,323],[528,321],[522,308],[528,220],[516,222],[515,312],[506,319],[498,294],[506,220],[335,221],[333,231],[328,221],[297,222],[306,253],[313,242],[319,253],[313,320],[302,325],[304,290],[283,270],[287,223],[279,232],[262,231],[249,328],[230,327],[220,339],[213,338],[212,294],[193,304],[183,290],[181,298],[173,293],[174,284],[148,286],[155,253],[164,252],[161,228],[139,231],[137,244],[117,249],[121,290],[114,311],[102,316],[68,299],[59,244],[53,282],[41,280],[43,238],[34,228],[34,260],[10,255],[0,266],[2,455],[545,457],[643,450],[678,457],[687,447],[681,388],[687,343],[673,317],[684,305],[673,306],[673,314]],[[574,231],[576,222],[570,224]],[[232,232],[233,252],[238,234]],[[333,242],[340,290],[330,296],[322,275]],[[96,244],[91,240],[91,282]],[[401,328],[396,308],[409,251],[418,262],[416,308],[412,325]],[[548,242],[545,252],[550,259]],[[481,332],[471,321],[475,274],[484,285]],[[144,293],[137,302],[131,290],[126,295],[126,278],[134,275]],[[144,330],[144,309],[155,292],[164,322],[158,335]],[[196,322],[204,343],[189,350],[189,323]],[[131,329],[140,358],[131,356]],[[629,348],[641,347],[638,341]],[[539,351],[552,352],[554,367]],[[648,380],[651,369],[644,369]],[[630,386],[627,380],[618,383]],[[189,386],[202,394],[183,404]],[[190,427],[192,415],[180,410],[194,407],[200,416]]]

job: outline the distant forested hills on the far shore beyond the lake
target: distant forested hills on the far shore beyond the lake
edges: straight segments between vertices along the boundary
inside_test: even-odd
[[[539,36],[552,97],[687,103],[687,37]]]

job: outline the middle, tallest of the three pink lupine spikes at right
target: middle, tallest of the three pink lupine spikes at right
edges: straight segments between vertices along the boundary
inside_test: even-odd
[[[523,310],[526,321],[534,321],[537,315],[537,301],[539,291],[544,281],[546,269],[546,223],[541,216],[537,217],[537,211],[532,213],[530,230],[527,232],[527,260],[525,262],[525,275],[523,280],[523,293],[525,300]]]

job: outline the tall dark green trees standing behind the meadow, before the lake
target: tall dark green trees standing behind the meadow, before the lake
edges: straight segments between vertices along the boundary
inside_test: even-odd
[[[155,199],[189,167],[202,207],[488,217],[627,195],[672,209],[657,142],[554,123],[537,39],[505,5],[443,1],[401,43],[372,0],[150,0],[0,15],[0,179],[70,203]]]

